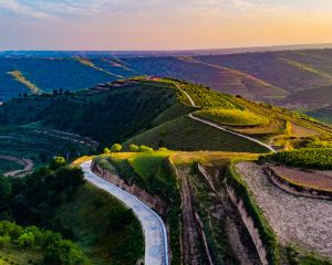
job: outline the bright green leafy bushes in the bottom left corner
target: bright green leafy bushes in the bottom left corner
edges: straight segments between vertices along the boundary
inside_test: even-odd
[[[40,230],[37,226],[22,227],[9,221],[0,222],[0,255],[1,248],[12,245],[17,252],[37,251],[42,253],[41,261],[25,261],[29,264],[45,265],[84,265],[90,264],[87,257],[80,247],[61,234],[49,230]],[[1,261],[13,264],[8,257]]]

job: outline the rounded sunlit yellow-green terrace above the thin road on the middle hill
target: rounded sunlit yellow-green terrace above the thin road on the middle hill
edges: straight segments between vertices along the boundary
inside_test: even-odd
[[[262,116],[239,109],[204,108],[195,114],[217,124],[231,126],[257,126],[269,123],[269,119]]]

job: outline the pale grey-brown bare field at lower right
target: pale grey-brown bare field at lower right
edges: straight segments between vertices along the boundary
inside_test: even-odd
[[[282,245],[332,258],[332,201],[299,197],[272,184],[253,162],[236,166]]]

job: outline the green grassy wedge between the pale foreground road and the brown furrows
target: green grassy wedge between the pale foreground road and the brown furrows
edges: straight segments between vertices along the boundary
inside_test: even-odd
[[[169,225],[170,248],[174,265],[180,264],[180,194],[175,168],[168,160],[167,150],[142,151],[137,153],[113,153],[96,157],[95,161],[104,169],[120,173],[126,183],[135,183],[167,204],[163,216]]]

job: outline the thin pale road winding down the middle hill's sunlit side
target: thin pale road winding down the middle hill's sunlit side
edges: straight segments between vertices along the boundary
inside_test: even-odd
[[[176,87],[177,87],[179,91],[181,91],[181,92],[186,95],[186,97],[187,97],[188,100],[190,102],[191,106],[193,106],[193,107],[196,107],[196,104],[195,104],[195,102],[193,100],[193,98],[190,97],[190,95],[189,95],[187,92],[185,92],[183,88],[180,88],[180,86],[179,86],[178,84],[175,84],[175,85],[176,85]],[[217,128],[217,129],[219,129],[219,130],[224,130],[224,131],[229,132],[229,134],[231,134],[231,135],[236,135],[236,136],[238,136],[238,137],[241,137],[241,138],[245,138],[245,139],[247,139],[247,140],[253,141],[253,142],[256,142],[256,144],[258,144],[258,145],[260,145],[260,146],[262,146],[262,147],[269,149],[271,152],[277,152],[276,149],[274,149],[273,147],[271,147],[271,146],[269,146],[269,145],[267,145],[267,144],[264,144],[264,142],[258,140],[258,139],[255,139],[255,138],[252,138],[252,137],[245,136],[245,135],[235,132],[235,131],[232,131],[232,130],[226,129],[225,127],[222,127],[222,126],[220,126],[220,125],[218,125],[218,124],[215,124],[215,123],[212,123],[212,121],[210,121],[210,120],[207,120],[207,119],[204,119],[204,118],[198,118],[198,117],[194,116],[193,114],[188,114],[188,117],[191,118],[191,119],[194,119],[194,120],[196,120],[196,121],[199,121],[199,123],[209,125],[209,126],[211,126],[211,127],[215,127],[215,128]]]

